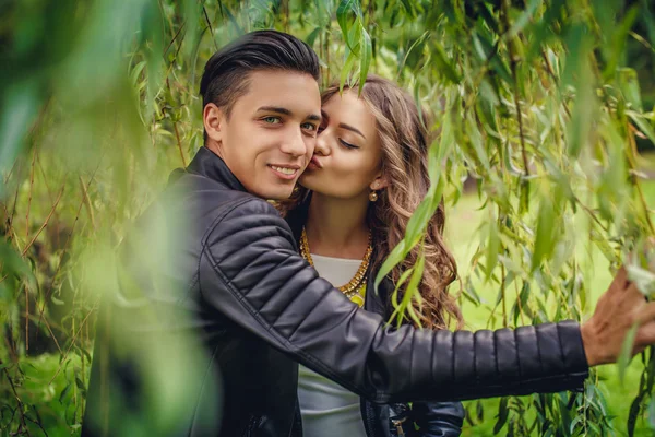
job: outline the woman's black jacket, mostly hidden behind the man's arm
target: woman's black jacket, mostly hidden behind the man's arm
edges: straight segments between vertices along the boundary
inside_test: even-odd
[[[307,222],[307,209],[310,199],[290,211],[286,221],[294,233],[296,243],[300,243],[302,226]],[[373,259],[376,257],[372,257]],[[373,284],[379,265],[371,265],[367,282]],[[379,314],[389,320],[393,308],[389,297],[394,285],[384,279],[373,293],[372,288],[366,294],[364,309]],[[361,418],[364,420],[367,437],[457,437],[462,434],[464,423],[464,408],[462,402],[413,402],[379,405],[361,399]],[[415,432],[417,425],[418,432]]]

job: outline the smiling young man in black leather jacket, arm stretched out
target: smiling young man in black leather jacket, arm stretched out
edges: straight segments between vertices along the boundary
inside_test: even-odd
[[[622,270],[582,328],[476,333],[386,330],[319,279],[263,200],[290,196],[309,163],[318,79],[311,48],[272,31],[207,62],[205,147],[142,221],[181,234],[176,262],[128,238],[83,435],[299,436],[297,363],[374,402],[452,401],[580,389],[636,320],[635,351],[655,342],[655,304]],[[133,260],[140,250],[145,261]]]

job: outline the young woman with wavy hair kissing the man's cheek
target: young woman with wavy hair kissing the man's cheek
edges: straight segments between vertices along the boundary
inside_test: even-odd
[[[366,290],[428,191],[428,120],[407,93],[372,75],[360,97],[356,88],[341,95],[337,86],[326,90],[322,113],[314,155],[287,221],[301,255],[321,276],[357,305],[389,318],[403,268],[392,271],[378,295]],[[421,324],[432,329],[462,326],[448,294],[456,265],[443,244],[444,218],[440,205],[428,226],[419,285]],[[406,263],[416,256],[415,250]],[[373,405],[303,366],[298,400],[308,437],[458,436],[464,417],[458,402]]]

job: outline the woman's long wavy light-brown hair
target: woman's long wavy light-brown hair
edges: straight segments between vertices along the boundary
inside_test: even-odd
[[[357,85],[352,85],[353,87]],[[347,88],[347,86],[346,86]],[[332,85],[322,94],[325,104],[338,94]],[[374,241],[373,265],[381,265],[391,250],[403,239],[409,217],[426,197],[430,187],[428,176],[428,149],[431,144],[427,110],[419,114],[412,96],[395,83],[369,75],[361,97],[373,114],[382,145],[382,173],[389,186],[370,202],[368,221]],[[421,117],[422,115],[422,117]],[[305,190],[295,198],[305,198]],[[418,285],[422,304],[414,303],[426,328],[450,328],[455,322],[463,326],[462,311],[455,298],[448,293],[449,285],[457,279],[455,260],[443,240],[445,211],[443,201],[428,223],[424,243],[426,257],[422,280]],[[417,260],[419,248],[414,248],[404,262],[390,273],[394,283]],[[398,292],[402,296],[404,290]]]

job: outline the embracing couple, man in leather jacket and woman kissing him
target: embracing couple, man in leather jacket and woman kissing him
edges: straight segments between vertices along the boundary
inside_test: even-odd
[[[372,284],[429,189],[426,111],[377,76],[321,94],[317,55],[274,31],[217,51],[200,88],[204,146],[141,221],[165,214],[176,262],[132,263],[107,296],[83,435],[458,436],[462,400],[581,390],[634,321],[634,353],[655,342],[655,304],[623,269],[583,324],[450,330],[462,315],[443,205],[426,235],[422,328],[388,327],[403,264]],[[144,245],[128,236],[124,257]],[[174,371],[152,371],[142,351],[171,335],[198,353],[171,346],[154,368]],[[170,400],[153,387],[176,377],[187,397],[162,417]]]

